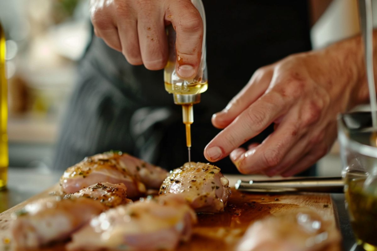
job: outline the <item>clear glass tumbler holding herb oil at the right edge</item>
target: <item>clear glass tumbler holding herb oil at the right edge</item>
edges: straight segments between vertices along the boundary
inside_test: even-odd
[[[341,114],[338,139],[346,207],[357,243],[377,250],[377,130],[370,112]]]

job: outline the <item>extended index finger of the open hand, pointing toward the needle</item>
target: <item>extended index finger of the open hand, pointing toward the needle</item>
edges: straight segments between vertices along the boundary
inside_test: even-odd
[[[283,97],[270,91],[251,104],[224,130],[216,135],[204,149],[208,161],[218,161],[261,133],[290,107]]]

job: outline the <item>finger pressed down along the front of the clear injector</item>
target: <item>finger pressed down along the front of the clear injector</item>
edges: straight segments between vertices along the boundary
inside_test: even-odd
[[[203,21],[189,0],[172,2],[166,13],[176,31],[176,71],[181,78],[194,78],[198,72],[203,41]]]

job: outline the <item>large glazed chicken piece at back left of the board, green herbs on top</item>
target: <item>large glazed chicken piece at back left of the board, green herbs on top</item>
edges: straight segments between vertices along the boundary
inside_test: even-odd
[[[127,196],[135,198],[143,195],[146,188],[158,189],[166,176],[166,170],[129,154],[106,152],[69,167],[60,178],[60,185],[64,193],[75,193],[99,182],[123,183]]]

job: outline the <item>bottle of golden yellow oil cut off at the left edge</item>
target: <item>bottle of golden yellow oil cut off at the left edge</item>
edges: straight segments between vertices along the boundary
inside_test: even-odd
[[[6,133],[8,119],[8,90],[5,77],[5,35],[0,24],[0,190],[7,181],[8,170],[8,135]]]

